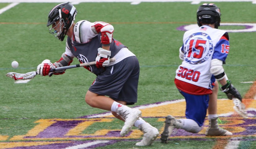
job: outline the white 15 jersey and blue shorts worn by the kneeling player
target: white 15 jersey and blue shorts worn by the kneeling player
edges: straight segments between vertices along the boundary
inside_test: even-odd
[[[203,25],[185,32],[181,51],[184,60],[176,70],[174,82],[185,97],[186,118],[202,126],[215,81],[210,73],[211,60],[225,61],[229,37],[225,31]]]

